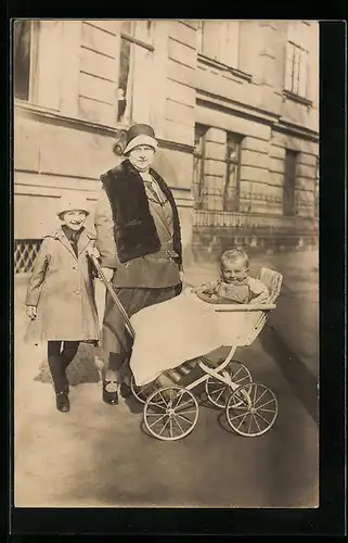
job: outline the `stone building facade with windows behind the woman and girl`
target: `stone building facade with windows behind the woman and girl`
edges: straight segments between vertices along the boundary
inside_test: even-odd
[[[16,21],[13,66],[17,273],[63,193],[93,206],[132,123],[155,128],[188,257],[315,241],[317,22]]]

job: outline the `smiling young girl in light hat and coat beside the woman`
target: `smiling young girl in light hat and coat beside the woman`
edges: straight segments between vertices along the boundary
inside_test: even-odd
[[[85,228],[89,215],[83,198],[62,198],[57,216],[62,226],[44,237],[35,261],[26,295],[31,319],[26,340],[48,342],[48,363],[56,394],[56,408],[69,411],[66,368],[81,341],[99,340],[89,253],[98,256],[95,237]]]

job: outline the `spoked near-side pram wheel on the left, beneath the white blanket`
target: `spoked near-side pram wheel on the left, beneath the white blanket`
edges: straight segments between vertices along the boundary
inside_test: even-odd
[[[149,432],[163,441],[189,435],[198,420],[195,396],[181,387],[164,387],[147,397],[144,422]]]

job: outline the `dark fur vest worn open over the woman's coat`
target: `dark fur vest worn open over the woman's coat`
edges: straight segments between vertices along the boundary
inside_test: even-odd
[[[180,265],[182,245],[177,205],[170,189],[157,172],[151,168],[150,174],[171,205],[173,250],[179,255],[178,264]],[[120,262],[128,262],[159,251],[160,241],[150,212],[143,179],[129,160],[126,159],[118,166],[106,172],[101,176],[101,180],[113,212],[114,237]]]

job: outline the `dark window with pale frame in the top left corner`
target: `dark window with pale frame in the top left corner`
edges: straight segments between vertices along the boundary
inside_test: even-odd
[[[15,21],[13,25],[13,89],[15,98],[29,101],[34,94],[37,22]]]

